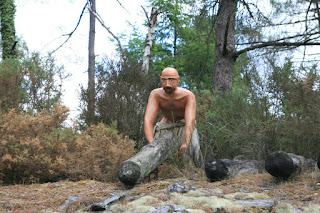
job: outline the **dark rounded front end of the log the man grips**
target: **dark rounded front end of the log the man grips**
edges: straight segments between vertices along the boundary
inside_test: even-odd
[[[132,161],[125,161],[118,170],[119,180],[132,188],[140,179],[140,167]]]

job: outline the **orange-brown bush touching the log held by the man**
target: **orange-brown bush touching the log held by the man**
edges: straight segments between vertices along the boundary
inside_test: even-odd
[[[120,165],[134,153],[135,142],[118,134],[116,124],[92,125],[76,141],[69,162],[73,179],[114,181]]]

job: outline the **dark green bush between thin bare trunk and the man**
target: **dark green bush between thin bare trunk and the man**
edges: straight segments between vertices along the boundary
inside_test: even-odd
[[[158,87],[158,78],[144,75],[135,61],[122,64],[105,59],[97,65],[96,122],[112,124],[135,140],[138,147],[144,143],[143,118],[147,99],[152,89]],[[86,104],[86,90],[82,89],[82,104]],[[86,107],[81,118],[86,120]]]

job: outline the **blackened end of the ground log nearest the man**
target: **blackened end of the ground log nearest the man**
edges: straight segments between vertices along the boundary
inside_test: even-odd
[[[208,161],[204,170],[211,182],[220,181],[228,177],[228,168],[221,160]]]

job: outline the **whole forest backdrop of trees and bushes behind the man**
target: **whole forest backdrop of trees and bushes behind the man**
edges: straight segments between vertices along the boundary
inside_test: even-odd
[[[320,2],[148,2],[149,36],[137,26],[129,35],[113,35],[119,57],[94,60],[93,72],[89,45],[81,115],[67,126],[68,109],[59,101],[67,78],[63,67],[52,52],[28,51],[15,36],[14,1],[1,1],[2,183],[116,180],[121,163],[146,144],[147,98],[168,66],[179,71],[180,86],[196,95],[206,160],[261,160],[274,151],[319,155]],[[103,23],[94,5],[84,1],[90,29],[93,20]]]

